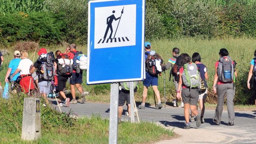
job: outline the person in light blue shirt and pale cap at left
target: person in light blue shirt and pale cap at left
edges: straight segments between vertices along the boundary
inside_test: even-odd
[[[9,82],[9,80],[12,83],[12,90],[17,86],[17,78],[20,76],[20,73],[17,73],[15,76],[12,77],[12,79],[9,79],[10,76],[13,75],[14,71],[16,71],[17,67],[20,63],[20,51],[16,50],[13,53],[14,58],[10,61],[8,65],[8,70],[5,76],[5,82]]]

